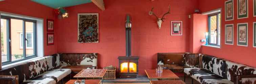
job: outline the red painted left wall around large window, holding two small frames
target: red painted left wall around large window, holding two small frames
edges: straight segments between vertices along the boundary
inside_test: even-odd
[[[47,40],[46,19],[56,20],[54,9],[32,2],[30,0],[4,0],[4,1],[0,1],[0,11],[43,18],[44,19],[44,55],[46,56],[46,55],[51,55],[56,53],[56,50],[55,50],[56,45],[50,45],[50,46],[46,45],[46,40]],[[57,24],[55,24],[55,30],[57,29],[56,25]],[[55,42],[56,42],[56,38],[55,38]]]

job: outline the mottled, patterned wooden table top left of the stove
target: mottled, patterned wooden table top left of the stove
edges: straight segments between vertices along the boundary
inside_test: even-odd
[[[107,69],[83,69],[74,78],[103,78]]]

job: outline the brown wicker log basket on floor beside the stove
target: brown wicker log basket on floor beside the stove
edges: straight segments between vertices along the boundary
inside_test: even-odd
[[[115,71],[116,71],[116,67],[114,67],[114,70],[107,70],[103,79],[104,80],[115,80]]]

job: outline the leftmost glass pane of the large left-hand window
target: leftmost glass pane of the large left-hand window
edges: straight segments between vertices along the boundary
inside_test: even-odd
[[[1,19],[1,52],[2,62],[7,60],[7,20]]]

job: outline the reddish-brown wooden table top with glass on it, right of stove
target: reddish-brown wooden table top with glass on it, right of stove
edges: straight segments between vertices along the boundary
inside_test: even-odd
[[[175,75],[171,70],[163,70],[162,74],[157,74],[155,70],[145,70],[149,79],[178,79],[179,77]]]

